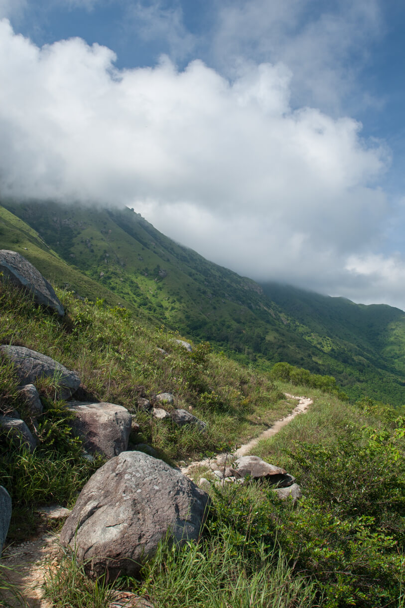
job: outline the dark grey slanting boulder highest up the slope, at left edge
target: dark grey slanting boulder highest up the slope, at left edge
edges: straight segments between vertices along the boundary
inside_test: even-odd
[[[54,288],[21,254],[9,249],[1,249],[0,271],[3,277],[7,277],[14,285],[31,292],[37,304],[52,308],[63,317],[64,309]]]

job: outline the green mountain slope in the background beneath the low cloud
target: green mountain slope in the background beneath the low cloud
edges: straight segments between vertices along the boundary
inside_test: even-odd
[[[270,369],[333,375],[352,398],[404,401],[405,313],[258,285],[181,246],[127,208],[2,200],[2,248],[55,285],[121,305]]]

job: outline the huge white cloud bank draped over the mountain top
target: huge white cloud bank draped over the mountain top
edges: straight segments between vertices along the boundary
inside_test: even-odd
[[[167,56],[118,69],[106,46],[40,47],[3,19],[1,194],[127,204],[241,274],[403,308],[403,258],[381,253],[389,147],[351,117],[297,106],[282,59],[235,62],[232,76]]]

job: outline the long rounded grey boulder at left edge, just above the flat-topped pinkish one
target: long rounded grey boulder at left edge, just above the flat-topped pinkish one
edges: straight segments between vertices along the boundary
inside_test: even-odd
[[[58,386],[57,396],[60,399],[69,399],[80,386],[80,378],[75,371],[68,370],[45,354],[8,344],[0,346],[0,353],[13,362],[14,371],[21,384],[35,384],[42,377],[55,378]]]

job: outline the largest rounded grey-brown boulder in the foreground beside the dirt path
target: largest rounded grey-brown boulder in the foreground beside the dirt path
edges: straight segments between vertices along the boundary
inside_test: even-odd
[[[180,471],[142,452],[122,452],[92,475],[60,534],[90,576],[134,575],[170,534],[197,539],[209,497]]]

